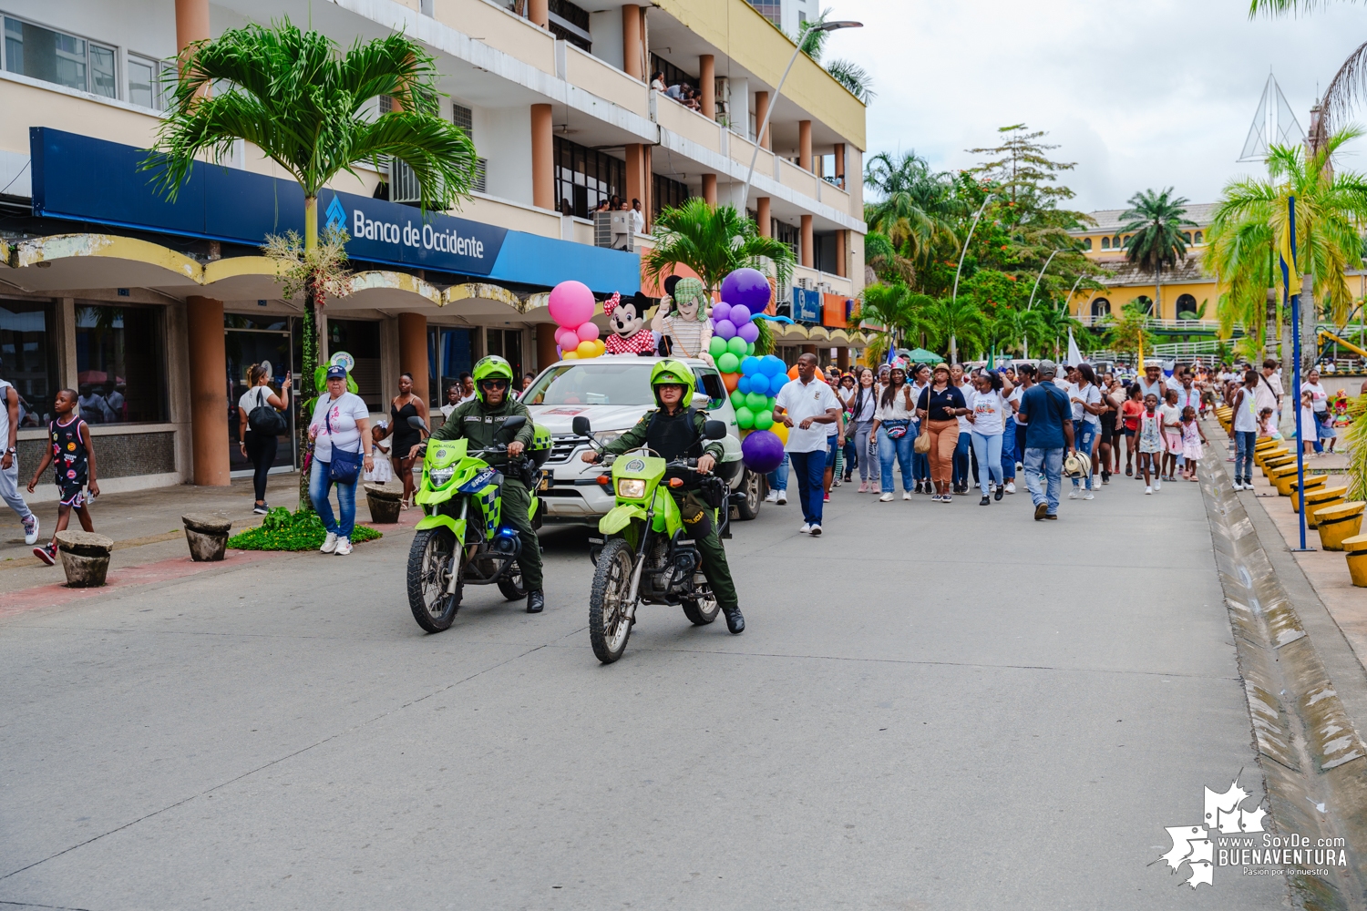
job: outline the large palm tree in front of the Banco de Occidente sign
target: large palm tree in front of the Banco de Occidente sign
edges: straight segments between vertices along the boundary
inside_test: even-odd
[[[413,169],[421,205],[450,209],[474,179],[474,146],[437,108],[436,61],[427,49],[390,34],[344,53],[328,37],[284,19],[271,26],[228,29],[180,57],[175,98],[142,167],[157,172],[170,199],[190,178],[195,160],[221,160],[245,139],[284,168],[303,190],[303,250],[319,246],[319,193],[339,172],[394,157]],[[394,109],[372,116],[380,97]],[[317,281],[305,288],[302,397],[313,395],[317,362]]]

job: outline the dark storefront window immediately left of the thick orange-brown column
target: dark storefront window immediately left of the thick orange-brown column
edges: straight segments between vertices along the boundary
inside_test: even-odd
[[[77,392],[86,423],[167,419],[160,307],[77,305]]]

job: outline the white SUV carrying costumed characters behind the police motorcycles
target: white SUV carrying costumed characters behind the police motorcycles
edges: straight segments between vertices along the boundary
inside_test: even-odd
[[[693,407],[726,423],[727,436],[722,440],[726,455],[718,474],[731,486],[738,518],[753,519],[764,497],[763,478],[741,462],[740,428],[722,374],[704,361],[671,359],[686,363],[697,377]],[[651,369],[660,361],[634,354],[559,361],[522,393],[532,419],[551,432],[551,458],[541,466],[544,478],[537,493],[544,504],[543,522],[593,524],[612,508],[611,492],[597,482],[603,468],[580,459],[589,449],[589,440],[577,436],[571,425],[574,418],[588,418],[600,444],[630,430],[656,407]]]

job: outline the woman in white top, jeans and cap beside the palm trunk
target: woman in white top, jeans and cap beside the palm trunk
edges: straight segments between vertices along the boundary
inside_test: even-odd
[[[364,440],[370,429],[370,412],[361,396],[347,392],[346,367],[328,367],[328,392],[320,395],[313,406],[313,419],[309,421],[309,438],[313,440],[313,464],[309,471],[309,500],[313,511],[323,519],[328,534],[319,548],[323,553],[346,556],[351,553],[351,529],[355,527],[355,482],[361,478],[361,467],[375,470],[375,460]],[[362,459],[361,452],[365,451]],[[328,492],[338,489],[338,505],[342,520],[332,515]]]

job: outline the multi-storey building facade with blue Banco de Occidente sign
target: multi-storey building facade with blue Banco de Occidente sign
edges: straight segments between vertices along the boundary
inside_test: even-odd
[[[480,156],[474,193],[427,220],[385,167],[342,175],[320,197],[323,217],[351,235],[354,270],[351,292],[320,317],[320,347],[353,355],[375,412],[388,411],[403,372],[436,406],[485,354],[544,367],[556,356],[545,295],[558,281],[658,296],[640,255],[653,214],[689,197],[744,206],[794,247],[797,288],[781,299],[861,290],[864,107],[807,57],[775,100],[793,44],[745,0],[592,11],[569,0],[0,0],[0,377],[25,400],[26,464],[45,445],[55,391],[71,387],[97,437],[101,488],[227,483],[246,467],[234,414],[246,367],[268,359],[297,380],[301,302],[282,296],[260,244],[302,224],[298,187],[241,143],[201,165],[174,205],[137,172],[180,49],[286,15],[342,46],[391,30],[421,41],[442,74],[443,116]],[[696,98],[652,92],[656,72]],[[603,243],[591,220],[614,198],[638,199],[647,217],[629,250]],[[785,343],[809,341],[802,332]],[[297,453],[282,444],[288,470]]]

